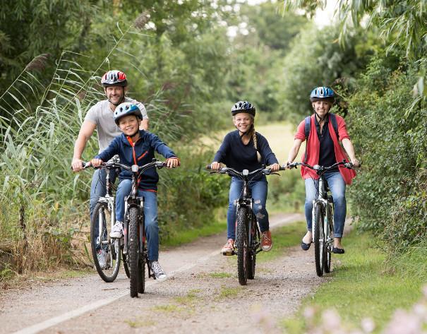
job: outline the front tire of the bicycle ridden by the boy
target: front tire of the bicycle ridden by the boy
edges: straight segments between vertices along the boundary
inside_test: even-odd
[[[128,231],[128,259],[131,297],[138,297],[138,270],[139,267],[139,238],[138,238],[138,208],[129,208],[129,231]]]

